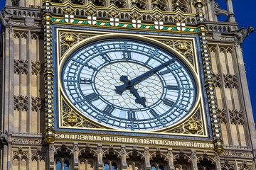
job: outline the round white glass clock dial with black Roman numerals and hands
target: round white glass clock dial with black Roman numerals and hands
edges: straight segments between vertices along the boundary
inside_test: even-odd
[[[122,130],[157,130],[181,120],[196,98],[193,77],[175,58],[145,42],[95,42],[68,57],[62,86],[92,120]]]

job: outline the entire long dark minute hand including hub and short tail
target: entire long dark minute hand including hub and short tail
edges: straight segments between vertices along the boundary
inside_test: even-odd
[[[131,81],[128,80],[127,76],[120,77],[120,80],[124,82],[121,86],[115,86],[116,87],[116,93],[122,94],[125,89],[129,89],[129,87],[133,87],[134,85],[139,84],[140,82],[144,81],[145,79],[148,79],[152,75],[154,75],[156,72],[159,72],[161,69],[164,69],[169,64],[172,64],[176,61],[176,59],[171,59],[168,62],[164,62],[163,64],[159,65],[158,67],[149,70],[149,72],[145,72],[144,74],[140,75],[139,77],[136,77],[132,79]]]

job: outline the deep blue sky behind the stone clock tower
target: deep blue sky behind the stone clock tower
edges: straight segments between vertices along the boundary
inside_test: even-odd
[[[220,8],[227,8],[225,0],[216,0]],[[4,0],[0,2],[0,8],[4,8]],[[233,0],[235,19],[239,23],[239,28],[252,26],[256,29],[255,19],[255,0],[238,1]],[[242,44],[243,57],[246,63],[245,69],[247,74],[247,81],[250,90],[250,98],[252,101],[252,110],[256,122],[256,31],[247,37]]]

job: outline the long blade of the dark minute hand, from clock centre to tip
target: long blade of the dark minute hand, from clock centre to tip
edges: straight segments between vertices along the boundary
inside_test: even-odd
[[[148,79],[152,75],[156,74],[156,72],[159,72],[161,69],[164,69],[169,64],[172,64],[176,61],[176,59],[171,59],[168,62],[164,62],[163,64],[159,65],[158,67],[149,70],[149,72],[145,72],[144,74],[140,75],[139,77],[136,77],[132,79],[130,82],[132,85],[139,84],[140,82],[144,81],[145,79]]]

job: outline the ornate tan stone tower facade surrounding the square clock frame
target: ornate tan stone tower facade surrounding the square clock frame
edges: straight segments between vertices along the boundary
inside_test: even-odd
[[[247,35],[253,32],[253,28],[238,29],[232,0],[226,0],[226,3],[228,11],[219,8],[218,4],[215,4],[215,0],[194,0],[193,2],[188,0],[6,0],[3,13],[0,13],[2,25],[0,35],[0,93],[2,98],[0,106],[0,169],[59,170],[67,166],[65,169],[96,170],[107,169],[107,166],[110,166],[109,169],[112,170],[255,170],[255,123],[252,117],[241,47]],[[47,4],[53,4],[53,6],[48,8]],[[214,103],[218,106],[216,108],[217,117],[209,117],[207,126],[213,130],[213,133],[218,133],[218,126],[220,127],[222,138],[213,139],[214,134],[209,137],[214,143],[215,149],[204,147],[204,145],[189,147],[181,142],[177,142],[177,145],[174,143],[169,147],[132,144],[132,142],[121,142],[117,139],[114,139],[117,142],[97,142],[97,140],[85,142],[75,140],[75,138],[74,140],[63,138],[63,140],[61,137],[58,138],[57,132],[55,136],[54,134],[50,135],[55,131],[53,127],[50,127],[50,114],[47,109],[51,99],[47,95],[53,96],[53,94],[46,94],[47,88],[49,88],[46,86],[46,82],[52,73],[49,73],[50,69],[48,70],[45,58],[51,56],[47,47],[51,45],[53,39],[48,41],[49,34],[46,25],[53,25],[54,17],[50,21],[46,16],[55,16],[58,20],[58,17],[64,17],[66,14],[64,9],[74,4],[77,10],[73,16],[78,23],[82,23],[84,18],[90,16],[88,13],[93,13],[95,8],[98,10],[102,7],[99,9],[102,11],[97,12],[95,16],[103,21],[104,19],[119,18],[130,22],[136,20],[132,17],[142,13],[144,15],[140,19],[142,22],[149,23],[156,21],[155,18],[162,17],[161,21],[169,26],[170,31],[171,26],[174,28],[177,26],[176,23],[186,23],[186,26],[198,29],[203,57],[201,62],[210,61],[208,63],[209,75],[206,74],[208,73],[206,70],[204,78],[208,79],[207,76],[209,76],[211,78],[209,82],[214,85],[213,87],[209,83],[205,86],[207,91],[213,89],[213,94],[215,94],[211,96],[214,101],[212,103],[208,101],[210,110],[214,110]],[[94,7],[92,8],[90,5]],[[116,6],[123,11],[117,17],[110,16],[107,13],[109,6]],[[136,15],[134,15],[134,11],[128,10],[134,6],[137,6]],[[156,8],[159,10],[159,16],[155,15],[156,12],[146,16],[145,13],[157,11]],[[194,17],[186,18],[188,13],[192,13]],[[227,16],[228,21],[218,22],[217,16],[220,15]],[[92,28],[95,27],[92,26]],[[202,30],[203,28],[206,30]],[[102,27],[102,29],[107,28]],[[131,30],[134,31],[134,28]],[[129,33],[128,28],[126,31]],[[153,32],[158,33],[158,31],[161,32],[161,30]],[[170,33],[174,35],[190,34],[185,30],[183,33],[177,31],[174,30]],[[77,36],[85,39],[93,35]],[[73,43],[72,38],[71,41],[65,42],[66,48],[70,48],[70,43]],[[181,47],[181,52],[182,49]],[[51,49],[50,51],[55,52]],[[187,55],[189,57],[188,53]],[[210,60],[207,60],[207,57],[210,57]],[[210,121],[214,118],[214,121],[217,122],[215,125],[217,129],[210,125]],[[92,127],[93,125],[87,123],[87,126]],[[170,138],[186,141],[186,137]],[[198,142],[196,137],[193,140],[190,142]]]

